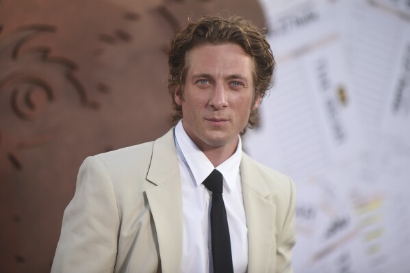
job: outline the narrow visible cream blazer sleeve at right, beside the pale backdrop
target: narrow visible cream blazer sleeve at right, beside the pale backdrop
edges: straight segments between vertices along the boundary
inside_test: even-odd
[[[290,197],[288,200],[287,216],[283,224],[282,232],[277,242],[277,272],[292,273],[292,248],[296,242],[295,235],[295,185],[290,181]]]

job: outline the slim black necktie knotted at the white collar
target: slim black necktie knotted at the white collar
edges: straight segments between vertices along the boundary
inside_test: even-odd
[[[213,170],[203,181],[203,185],[212,192],[211,236],[214,273],[233,272],[227,211],[225,210],[224,199],[222,198],[222,174],[216,169]]]

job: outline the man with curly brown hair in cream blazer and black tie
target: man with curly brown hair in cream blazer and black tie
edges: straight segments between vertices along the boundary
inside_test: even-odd
[[[52,272],[292,272],[294,184],[240,140],[270,86],[268,42],[242,18],[205,16],[168,54],[177,126],[84,161]]]

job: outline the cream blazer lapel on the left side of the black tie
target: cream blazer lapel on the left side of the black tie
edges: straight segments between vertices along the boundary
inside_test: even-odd
[[[157,185],[146,190],[146,196],[157,231],[162,272],[180,272],[183,214],[174,129],[155,140],[146,179]]]

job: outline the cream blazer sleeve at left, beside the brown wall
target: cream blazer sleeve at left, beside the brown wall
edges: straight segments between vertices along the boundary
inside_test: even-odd
[[[88,157],[64,211],[51,272],[113,272],[119,219],[110,175],[103,161]]]

